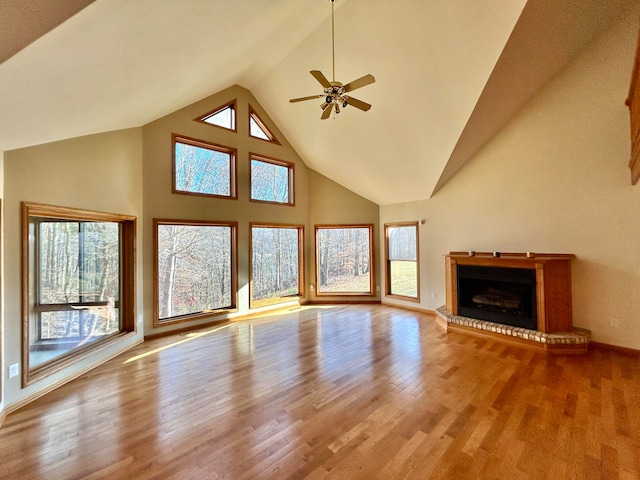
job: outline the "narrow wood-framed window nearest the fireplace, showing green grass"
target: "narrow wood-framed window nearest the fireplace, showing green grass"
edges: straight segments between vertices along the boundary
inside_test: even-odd
[[[390,223],[384,230],[386,294],[419,301],[418,224]]]

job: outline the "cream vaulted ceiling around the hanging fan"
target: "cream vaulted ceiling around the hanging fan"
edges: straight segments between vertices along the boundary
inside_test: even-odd
[[[0,30],[35,38],[34,16],[69,2],[0,9]],[[2,38],[17,53],[0,64],[0,150],[144,125],[239,84],[314,170],[381,205],[420,200],[637,2],[336,0],[336,80],[373,74],[353,93],[373,108],[321,121],[320,102],[288,100],[321,93],[309,70],[331,79],[329,0],[74,0],[28,46]]]

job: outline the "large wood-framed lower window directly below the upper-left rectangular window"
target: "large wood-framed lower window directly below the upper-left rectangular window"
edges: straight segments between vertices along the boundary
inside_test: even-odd
[[[154,325],[236,308],[237,224],[154,220]]]

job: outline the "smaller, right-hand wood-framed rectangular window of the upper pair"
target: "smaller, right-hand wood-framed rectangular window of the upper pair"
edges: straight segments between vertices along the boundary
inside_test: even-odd
[[[293,164],[251,154],[251,200],[293,205]]]

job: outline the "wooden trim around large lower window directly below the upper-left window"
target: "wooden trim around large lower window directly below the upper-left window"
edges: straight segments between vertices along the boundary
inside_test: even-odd
[[[211,310],[207,312],[190,313],[160,320],[159,294],[158,294],[158,226],[159,225],[186,225],[195,227],[231,227],[231,305],[228,308]],[[175,325],[178,323],[211,318],[238,311],[238,222],[208,221],[208,220],[179,220],[179,219],[153,219],[153,326],[154,328]]]

